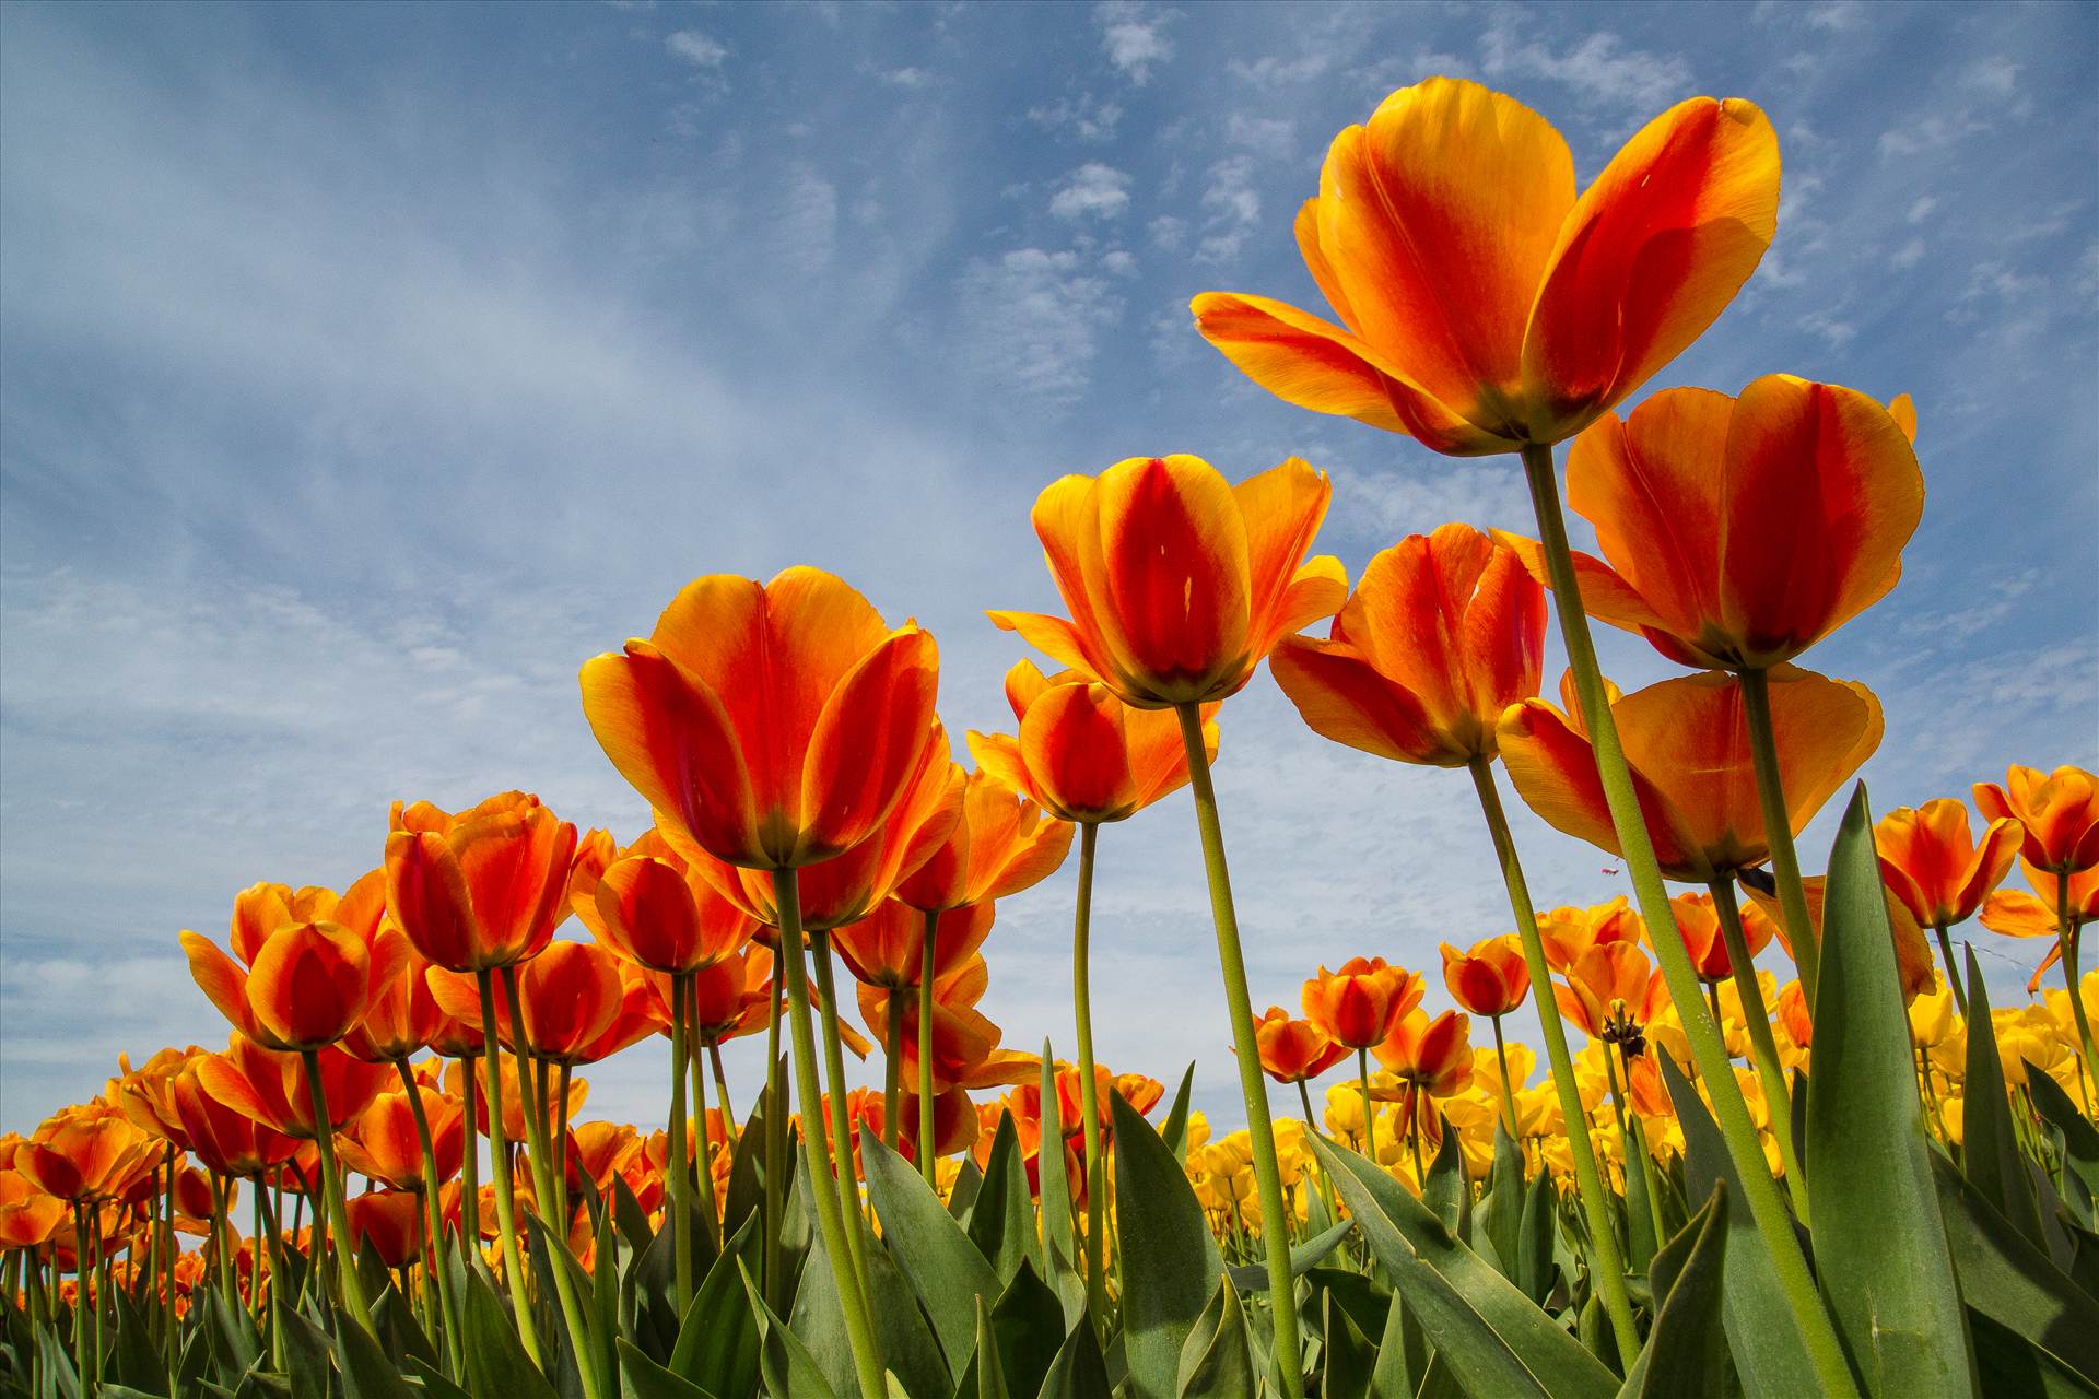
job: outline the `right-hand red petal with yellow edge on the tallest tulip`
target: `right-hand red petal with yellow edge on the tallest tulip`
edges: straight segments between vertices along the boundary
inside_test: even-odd
[[[1524,333],[1532,440],[1629,396],[1734,300],[1778,231],[1778,136],[1748,101],[1648,122],[1560,229]]]

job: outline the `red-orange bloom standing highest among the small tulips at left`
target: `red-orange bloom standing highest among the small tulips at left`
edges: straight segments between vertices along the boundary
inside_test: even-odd
[[[510,967],[535,956],[569,917],[573,854],[575,826],[529,793],[502,793],[455,816],[428,801],[395,803],[386,910],[437,967]]]

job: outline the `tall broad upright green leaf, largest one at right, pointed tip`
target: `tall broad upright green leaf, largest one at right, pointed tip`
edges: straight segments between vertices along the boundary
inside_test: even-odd
[[[1973,1361],[1933,1208],[1910,1017],[1864,782],[1851,789],[1830,849],[1820,975],[1807,1200],[1822,1296],[1868,1393],[1969,1395]]]

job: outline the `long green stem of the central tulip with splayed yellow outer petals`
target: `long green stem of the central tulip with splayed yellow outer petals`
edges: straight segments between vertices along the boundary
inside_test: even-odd
[[[1287,1399],[1303,1399],[1303,1361],[1297,1347],[1297,1286],[1291,1279],[1289,1217],[1282,1204],[1282,1170],[1276,1164],[1276,1131],[1268,1118],[1268,1078],[1253,1032],[1253,1000],[1247,992],[1247,959],[1238,946],[1238,910],[1232,906],[1232,875],[1224,862],[1224,826],[1217,820],[1217,791],[1209,780],[1209,751],[1203,745],[1203,709],[1173,707],[1188,751],[1188,787],[1194,820],[1203,837],[1203,866],[1209,873],[1209,912],[1217,927],[1217,963],[1224,971],[1224,1003],[1232,1017],[1232,1053],[1238,1086],[1247,1099],[1247,1135],[1253,1143],[1253,1179],[1261,1196],[1261,1252],[1268,1254],[1268,1303],[1274,1323],[1274,1359]]]

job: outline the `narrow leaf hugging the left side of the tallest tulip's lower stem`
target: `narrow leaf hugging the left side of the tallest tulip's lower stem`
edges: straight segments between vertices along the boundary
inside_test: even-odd
[[[1748,1198],[1742,1181],[1734,1172],[1734,1158],[1727,1143],[1706,1112],[1698,1089],[1683,1078],[1683,1072],[1669,1055],[1654,1057],[1669,1086],[1669,1101],[1677,1110],[1677,1124],[1683,1128],[1683,1185],[1692,1198],[1704,1196],[1717,1183],[1727,1185],[1727,1250],[1721,1271],[1721,1317],[1727,1326],[1727,1351],[1734,1355],[1742,1391],[1751,1399],[1793,1399],[1811,1395],[1820,1386],[1807,1347],[1786,1307],[1786,1296],[1778,1288],[1778,1271],[1772,1254],[1765,1252],[1757,1221],[1748,1212]]]

